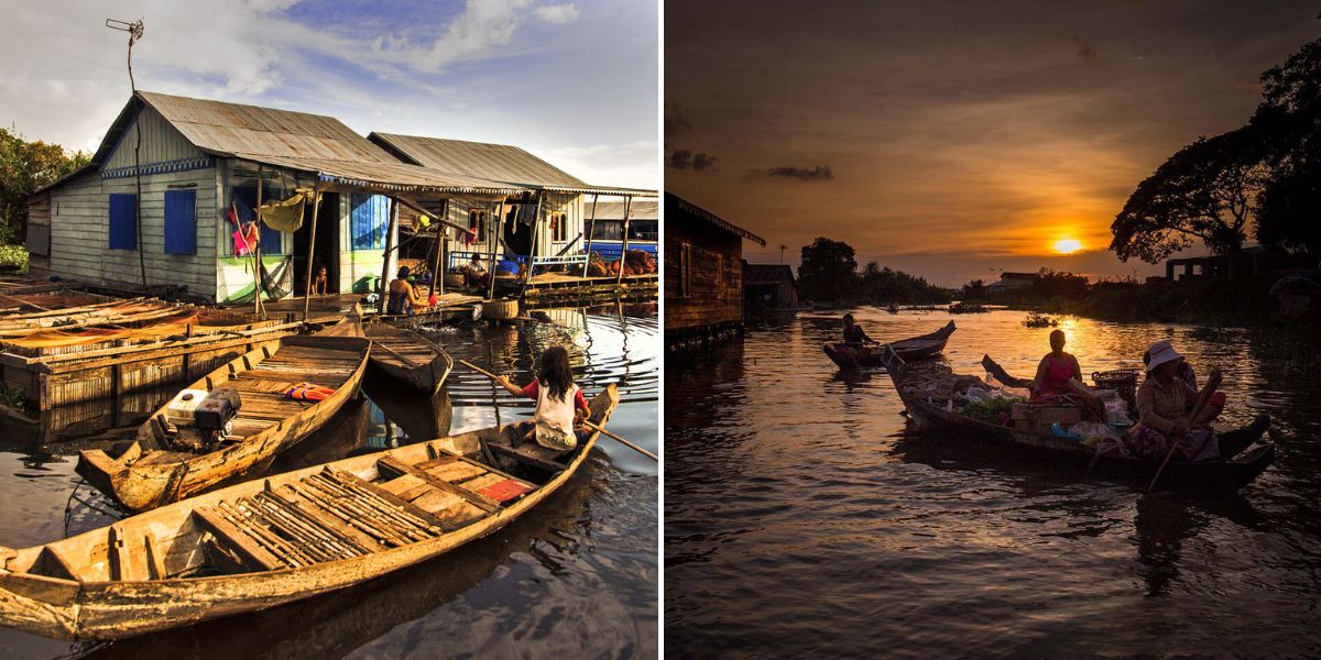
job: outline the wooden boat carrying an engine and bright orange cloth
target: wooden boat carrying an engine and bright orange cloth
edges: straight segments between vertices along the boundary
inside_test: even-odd
[[[137,440],[111,458],[99,449],[79,453],[77,471],[132,511],[177,502],[259,466],[299,444],[355,396],[367,366],[367,339],[287,337],[239,356],[189,389],[231,385],[240,407],[232,429],[215,449],[180,451],[188,437],[166,421],[166,407],[139,429]],[[322,401],[296,401],[289,387],[312,381],[334,389]],[[210,449],[210,450],[207,450]]]

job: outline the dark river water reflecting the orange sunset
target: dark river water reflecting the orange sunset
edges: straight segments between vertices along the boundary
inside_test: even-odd
[[[1050,329],[1021,312],[853,310],[873,338],[955,319],[943,359],[1030,378]],[[1227,425],[1273,418],[1275,463],[1236,494],[1087,482],[923,437],[884,372],[822,354],[841,313],[754,321],[666,360],[666,655],[1271,657],[1321,653],[1321,387],[1236,331],[1065,318],[1083,372],[1168,338]]]

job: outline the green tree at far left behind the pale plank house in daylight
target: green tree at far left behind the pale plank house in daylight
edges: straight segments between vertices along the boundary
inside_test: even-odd
[[[91,160],[58,144],[29,143],[13,129],[0,128],[0,243],[28,234],[28,195]]]

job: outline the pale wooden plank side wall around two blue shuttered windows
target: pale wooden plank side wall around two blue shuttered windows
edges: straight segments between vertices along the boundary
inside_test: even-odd
[[[144,161],[145,164],[145,161]],[[207,228],[217,213],[215,169],[196,169],[141,177],[141,246],[151,285],[178,284],[193,296],[215,296],[215,240]],[[197,253],[165,253],[165,191],[197,190]],[[136,194],[135,177],[102,180],[92,172],[52,191],[50,273],[107,285],[140,286],[137,249],[110,249],[110,195]]]

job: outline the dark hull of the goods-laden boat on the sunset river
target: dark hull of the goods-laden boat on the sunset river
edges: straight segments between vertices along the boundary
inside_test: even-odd
[[[1086,474],[1089,466],[1092,466],[1098,474],[1143,484],[1151,482],[1152,475],[1156,474],[1157,466],[1147,461],[1110,454],[1096,458],[1094,449],[1074,440],[1059,438],[1049,433],[1018,430],[964,417],[956,411],[947,411],[943,405],[927,401],[913,388],[913,383],[908,379],[911,374],[909,366],[893,351],[886,354],[885,367],[894,383],[894,389],[904,400],[909,418],[923,433],[938,436],[942,440],[972,442],[979,446],[996,444],[1015,457],[1030,454],[1054,463],[1071,463],[1073,467],[1069,469],[1075,470],[1079,477]],[[1161,474],[1161,483],[1217,490],[1243,487],[1260,475],[1275,459],[1275,444],[1258,442],[1268,428],[1269,417],[1263,414],[1250,426],[1218,433],[1225,458],[1196,463],[1173,459]],[[1095,465],[1092,465],[1094,459]]]

